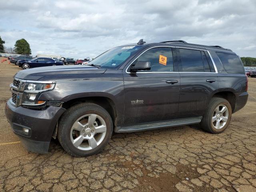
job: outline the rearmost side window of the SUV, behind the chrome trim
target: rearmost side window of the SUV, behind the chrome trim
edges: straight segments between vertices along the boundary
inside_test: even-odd
[[[244,73],[244,69],[237,55],[216,52],[227,73]]]

